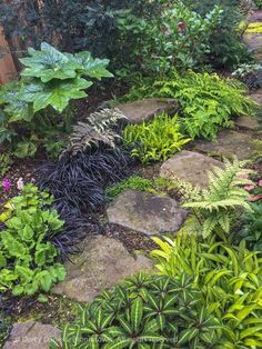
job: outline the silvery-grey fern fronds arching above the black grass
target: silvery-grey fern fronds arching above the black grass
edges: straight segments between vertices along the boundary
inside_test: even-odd
[[[75,156],[78,152],[84,151],[92,146],[99,146],[99,143],[115,148],[115,142],[121,137],[115,132],[114,128],[121,119],[125,119],[125,117],[117,108],[102,109],[91,113],[85,122],[78,122],[73,127],[70,144],[64,152]]]

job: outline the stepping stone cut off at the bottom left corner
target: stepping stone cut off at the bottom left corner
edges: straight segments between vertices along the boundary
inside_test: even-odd
[[[51,325],[14,323],[3,349],[48,349],[51,338],[60,339],[60,330]]]

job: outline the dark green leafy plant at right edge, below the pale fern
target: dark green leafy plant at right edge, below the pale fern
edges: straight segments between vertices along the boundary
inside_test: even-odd
[[[252,203],[252,212],[245,212],[236,239],[246,241],[249,249],[262,251],[262,203]]]

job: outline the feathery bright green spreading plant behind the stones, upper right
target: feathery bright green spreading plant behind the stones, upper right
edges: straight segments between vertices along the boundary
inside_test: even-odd
[[[182,124],[189,136],[213,140],[220,128],[232,126],[232,117],[254,112],[254,102],[245,93],[245,87],[236,80],[189,71],[182,76],[173,72],[169,79],[134,87],[127,99],[175,98],[182,107]]]

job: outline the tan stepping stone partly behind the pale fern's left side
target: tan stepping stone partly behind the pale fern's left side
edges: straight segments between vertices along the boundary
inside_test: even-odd
[[[199,152],[183,150],[162,164],[160,177],[171,180],[179,179],[193,186],[208,187],[208,172],[214,166],[222,168],[223,163]]]

